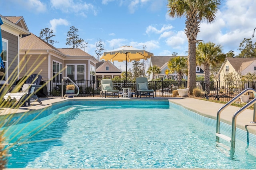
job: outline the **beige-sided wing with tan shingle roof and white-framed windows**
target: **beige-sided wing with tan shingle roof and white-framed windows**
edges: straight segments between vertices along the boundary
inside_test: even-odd
[[[59,82],[66,76],[92,80],[98,60],[81,49],[57,49],[30,33],[20,39],[20,62],[25,66],[20,76],[40,74],[44,80]]]

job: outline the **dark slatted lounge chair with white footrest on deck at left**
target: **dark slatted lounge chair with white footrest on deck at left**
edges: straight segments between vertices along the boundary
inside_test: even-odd
[[[27,100],[28,106],[30,106],[30,98],[33,98],[36,100],[38,103],[42,104],[41,100],[36,96],[36,90],[41,87],[40,81],[42,79],[42,76],[38,74],[32,74],[29,77],[23,77],[20,80],[16,82],[17,86],[20,83],[20,81],[25,81],[24,84],[22,85],[22,90],[21,92],[16,92],[16,93],[7,93],[4,95],[5,100],[16,100],[17,102],[21,102],[20,100]],[[32,95],[30,95],[32,94]],[[26,106],[26,102],[24,105]]]

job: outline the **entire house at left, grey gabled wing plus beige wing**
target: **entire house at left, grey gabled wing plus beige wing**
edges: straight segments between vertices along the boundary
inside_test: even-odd
[[[51,80],[48,89],[59,85],[63,77],[71,80],[96,80],[96,63],[99,61],[81,49],[61,48],[46,43],[33,33],[23,17],[2,17],[1,25],[6,64],[1,69],[1,83],[10,83],[8,78],[18,80],[22,76],[40,74],[43,80]],[[5,56],[6,55],[6,56]],[[87,86],[90,86],[88,84]]]

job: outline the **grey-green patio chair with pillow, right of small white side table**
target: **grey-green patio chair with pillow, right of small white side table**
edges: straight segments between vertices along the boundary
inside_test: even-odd
[[[149,96],[152,94],[152,97],[154,98],[154,90],[148,89],[148,78],[146,77],[137,77],[136,78],[136,94],[137,98],[138,95],[144,95],[144,96]]]

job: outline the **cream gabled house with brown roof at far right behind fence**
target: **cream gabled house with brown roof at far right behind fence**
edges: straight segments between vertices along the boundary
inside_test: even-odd
[[[244,76],[248,72],[256,73],[256,58],[226,58],[220,67],[218,76],[220,76],[220,81],[223,82],[225,81],[225,75],[233,73]]]

